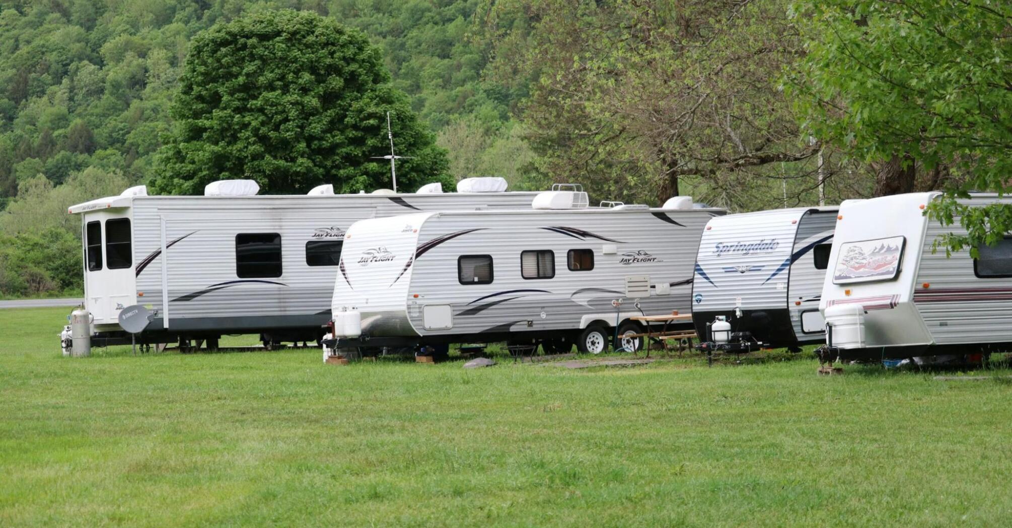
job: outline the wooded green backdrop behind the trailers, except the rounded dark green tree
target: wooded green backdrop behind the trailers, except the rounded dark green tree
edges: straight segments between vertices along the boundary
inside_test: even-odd
[[[276,9],[378,48],[442,179],[754,210],[1004,189],[1012,164],[1007,2],[0,0],[0,294],[79,283],[23,254],[79,259],[68,204],[171,172],[194,36]]]

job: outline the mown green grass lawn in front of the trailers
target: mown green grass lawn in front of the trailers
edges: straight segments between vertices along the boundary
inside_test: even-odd
[[[1001,379],[64,358],[68,312],[0,311],[0,526],[1012,523]]]

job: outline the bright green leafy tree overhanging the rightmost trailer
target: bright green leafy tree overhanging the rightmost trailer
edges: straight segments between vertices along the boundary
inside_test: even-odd
[[[929,213],[967,230],[940,241],[949,250],[1012,231],[1012,208],[957,201],[1010,190],[1012,3],[807,0],[794,13],[808,42],[791,87],[813,134],[890,168],[876,194],[943,186]]]

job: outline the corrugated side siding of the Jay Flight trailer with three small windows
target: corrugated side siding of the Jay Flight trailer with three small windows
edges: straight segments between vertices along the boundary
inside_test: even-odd
[[[705,223],[721,212],[585,209],[430,216],[422,226],[420,246],[462,235],[416,259],[410,292],[420,293],[420,304],[451,305],[453,326],[424,330],[424,310],[409,310],[409,318],[423,335],[572,330],[579,328],[584,316],[594,314],[614,324],[611,300],[624,296],[625,278],[635,275],[649,275],[654,285],[674,284],[669,294],[658,295],[654,289],[640,299],[647,315],[675,310],[688,314],[699,236]],[[608,246],[615,253],[605,254]],[[594,268],[571,271],[567,260],[571,249],[592,250]],[[520,255],[531,250],[554,253],[553,278],[522,278]],[[457,277],[461,255],[491,255],[493,282],[461,284]],[[636,312],[632,302],[626,300],[622,312]]]

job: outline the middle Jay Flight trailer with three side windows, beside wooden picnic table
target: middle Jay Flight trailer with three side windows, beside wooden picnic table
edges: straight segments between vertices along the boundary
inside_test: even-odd
[[[693,208],[690,197],[667,208],[586,200],[553,191],[527,210],[355,223],[325,352],[501,341],[600,352],[616,324],[621,335],[642,332],[631,317],[687,313],[699,235],[724,210]]]

